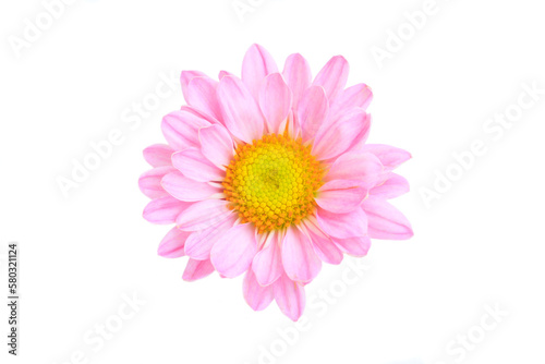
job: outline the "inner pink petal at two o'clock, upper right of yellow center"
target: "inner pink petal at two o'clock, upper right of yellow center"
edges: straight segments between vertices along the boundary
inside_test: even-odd
[[[368,118],[362,109],[344,113],[334,124],[325,123],[316,133],[312,153],[318,159],[335,158],[368,134]]]

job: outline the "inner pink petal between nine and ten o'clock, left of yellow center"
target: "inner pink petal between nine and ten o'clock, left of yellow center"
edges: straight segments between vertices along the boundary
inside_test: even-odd
[[[226,177],[226,172],[206,159],[198,148],[187,148],[174,153],[172,166],[183,175],[199,182],[223,181]]]

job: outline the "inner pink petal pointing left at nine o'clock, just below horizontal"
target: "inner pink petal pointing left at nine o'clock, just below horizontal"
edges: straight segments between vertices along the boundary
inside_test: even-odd
[[[206,182],[192,180],[179,171],[165,175],[161,180],[161,186],[173,197],[185,202],[203,201],[221,193],[218,187]]]

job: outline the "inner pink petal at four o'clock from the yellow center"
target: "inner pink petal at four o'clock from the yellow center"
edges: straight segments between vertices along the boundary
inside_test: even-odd
[[[334,214],[318,207],[316,218],[322,230],[330,236],[348,239],[367,234],[367,216],[361,208],[347,214]]]

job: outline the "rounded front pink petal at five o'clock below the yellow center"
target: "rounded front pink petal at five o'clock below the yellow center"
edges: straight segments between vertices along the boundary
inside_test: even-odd
[[[311,239],[295,227],[289,227],[282,241],[282,265],[288,277],[298,282],[310,282],[322,269],[322,260]]]

